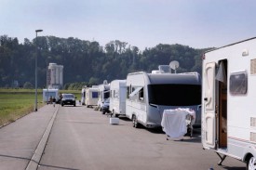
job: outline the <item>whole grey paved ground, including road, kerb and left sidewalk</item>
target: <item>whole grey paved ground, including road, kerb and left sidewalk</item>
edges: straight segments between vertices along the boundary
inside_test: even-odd
[[[46,105],[0,128],[0,170],[244,170],[245,163],[202,150],[200,129],[183,141],[161,129],[109,124],[85,106]]]

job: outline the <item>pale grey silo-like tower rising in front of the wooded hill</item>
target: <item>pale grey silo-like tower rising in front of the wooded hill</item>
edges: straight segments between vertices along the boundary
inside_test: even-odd
[[[63,86],[63,66],[56,63],[49,63],[47,70],[47,87],[62,88]]]

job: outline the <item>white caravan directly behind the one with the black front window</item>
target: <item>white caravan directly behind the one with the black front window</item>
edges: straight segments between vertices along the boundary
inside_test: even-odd
[[[127,81],[114,80],[110,84],[109,111],[114,117],[126,115]]]

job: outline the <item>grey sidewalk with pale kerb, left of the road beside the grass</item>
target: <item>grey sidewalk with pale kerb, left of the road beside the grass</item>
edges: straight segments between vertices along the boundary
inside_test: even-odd
[[[46,105],[0,128],[0,170],[33,170],[39,163],[58,106]]]

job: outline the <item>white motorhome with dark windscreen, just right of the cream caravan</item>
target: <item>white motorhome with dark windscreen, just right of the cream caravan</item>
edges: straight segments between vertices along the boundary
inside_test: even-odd
[[[104,81],[104,83],[102,85],[98,85],[98,88],[99,88],[99,99],[98,99],[98,104],[97,105],[98,105],[98,107],[100,108],[100,111],[101,111],[105,99],[109,98],[110,85],[107,84],[106,81]]]

